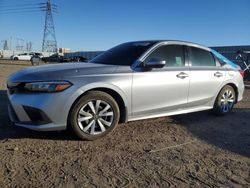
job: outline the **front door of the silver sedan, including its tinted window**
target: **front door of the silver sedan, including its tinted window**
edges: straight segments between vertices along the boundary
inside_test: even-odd
[[[143,63],[157,58],[165,60],[166,65],[133,73],[132,119],[156,117],[186,107],[190,78],[184,51],[182,45],[160,46]]]

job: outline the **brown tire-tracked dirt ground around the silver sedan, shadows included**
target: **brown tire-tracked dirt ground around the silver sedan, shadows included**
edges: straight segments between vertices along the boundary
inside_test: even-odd
[[[136,121],[88,142],[9,122],[6,78],[27,66],[0,61],[0,187],[250,187],[250,89],[230,116]]]

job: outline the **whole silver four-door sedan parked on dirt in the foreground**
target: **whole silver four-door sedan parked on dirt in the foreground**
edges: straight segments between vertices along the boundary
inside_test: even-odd
[[[210,109],[226,115],[244,91],[239,66],[182,41],[129,42],[89,63],[30,67],[12,74],[7,87],[16,125],[70,127],[86,140],[107,135],[118,122]]]

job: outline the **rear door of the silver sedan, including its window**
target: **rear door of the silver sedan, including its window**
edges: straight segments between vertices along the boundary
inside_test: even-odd
[[[221,88],[226,71],[210,51],[196,47],[187,47],[187,51],[190,64],[188,107],[209,106]]]

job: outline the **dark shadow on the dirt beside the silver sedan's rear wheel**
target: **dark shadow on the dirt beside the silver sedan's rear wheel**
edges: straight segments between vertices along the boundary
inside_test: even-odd
[[[198,139],[221,149],[250,157],[250,108],[234,109],[226,116],[210,111],[173,116]]]

